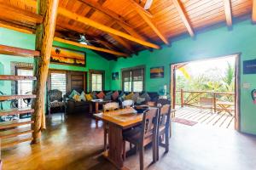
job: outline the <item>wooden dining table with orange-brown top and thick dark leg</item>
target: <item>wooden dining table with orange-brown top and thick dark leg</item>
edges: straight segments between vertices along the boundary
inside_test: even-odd
[[[128,169],[125,167],[123,154],[123,132],[125,129],[134,127],[142,123],[143,114],[137,114],[133,108],[119,109],[105,113],[95,114],[97,119],[108,123],[108,145],[109,148],[103,153],[109,161],[118,169]]]

